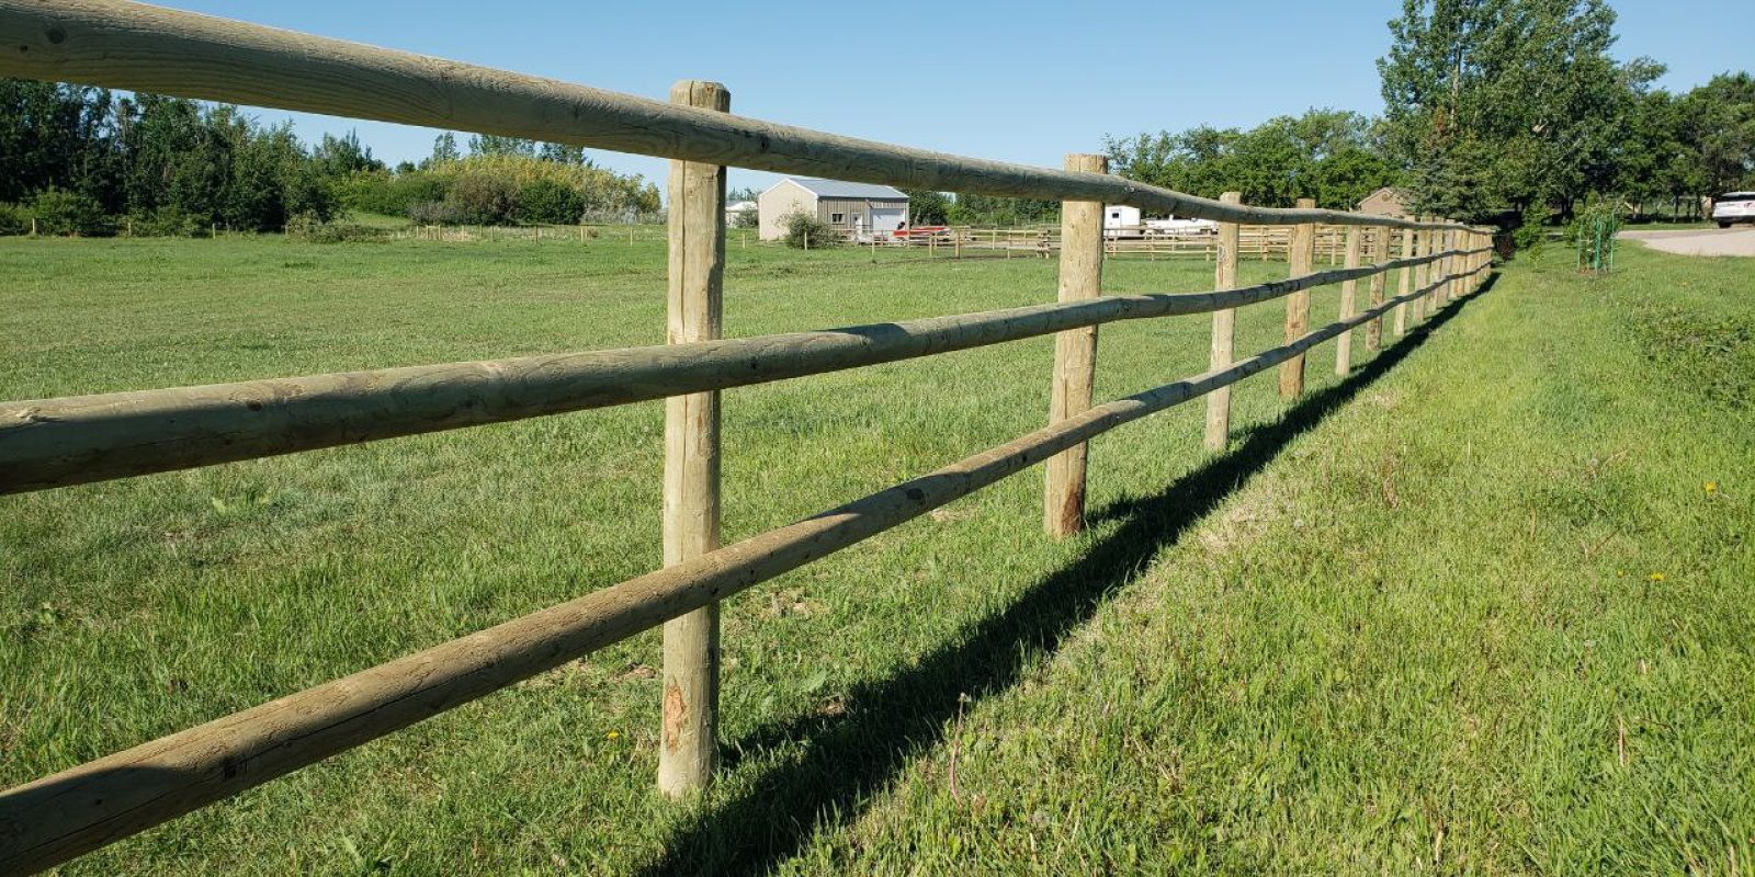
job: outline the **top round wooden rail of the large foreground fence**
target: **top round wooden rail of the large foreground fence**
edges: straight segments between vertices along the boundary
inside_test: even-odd
[[[1223,223],[1469,228],[1344,210],[1221,203],[1106,174],[909,149],[116,0],[0,0],[0,75],[528,137],[777,174],[1125,203]]]

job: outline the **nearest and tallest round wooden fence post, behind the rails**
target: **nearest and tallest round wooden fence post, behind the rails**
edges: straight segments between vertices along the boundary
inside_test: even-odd
[[[732,95],[684,79],[670,103],[720,112]],[[670,161],[669,344],[716,340],[723,326],[725,168]],[[632,226],[630,226],[632,237]],[[720,547],[720,393],[665,400],[663,563]],[[713,782],[720,710],[720,603],[663,624],[663,728],[658,789],[679,798]]]

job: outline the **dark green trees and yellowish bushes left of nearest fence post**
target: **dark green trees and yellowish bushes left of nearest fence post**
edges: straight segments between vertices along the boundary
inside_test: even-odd
[[[656,214],[658,188],[579,147],[446,132],[395,168],[358,135],[305,146],[291,125],[161,95],[0,79],[0,233],[279,232],[346,210],[425,223],[579,223]]]

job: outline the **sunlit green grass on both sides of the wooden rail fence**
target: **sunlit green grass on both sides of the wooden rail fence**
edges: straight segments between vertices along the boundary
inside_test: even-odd
[[[1055,289],[1035,258],[728,261],[728,335]],[[734,598],[700,802],[653,789],[648,633],[65,870],[1743,873],[1755,272],[1571,265],[1344,381],[1318,347],[1295,405],[1244,382],[1223,456],[1200,403],[1097,440],[1083,537],[1042,537],[1032,470]],[[0,330],[0,398],[655,344],[663,253],[11,239]],[[1104,326],[1099,396],[1202,370],[1207,333]],[[1049,360],[727,391],[727,538],[1041,426]],[[642,403],[0,498],[0,784],[658,567],[660,440]]]

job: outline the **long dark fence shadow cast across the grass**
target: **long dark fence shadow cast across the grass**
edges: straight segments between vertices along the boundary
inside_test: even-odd
[[[1474,295],[1488,293],[1495,277],[1488,275]],[[1113,533],[916,667],[853,686],[848,712],[779,721],[730,742],[730,759],[784,744],[802,742],[806,751],[756,777],[753,789],[709,800],[691,823],[667,838],[663,852],[642,873],[765,873],[799,852],[818,826],[856,817],[865,800],[918,752],[944,740],[960,696],[981,700],[1016,684],[1030,654],[1055,652],[1109,595],[1137,579],[1158,549],[1178,542],[1288,442],[1395,368],[1472,298],[1451,302],[1346,381],[1311,393],[1279,421],[1244,433],[1236,451],[1197,467],[1157,495],[1102,509],[1093,521],[1116,523]]]

